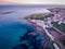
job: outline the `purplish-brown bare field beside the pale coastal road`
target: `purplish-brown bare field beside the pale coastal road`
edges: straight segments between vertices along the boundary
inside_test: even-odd
[[[49,32],[60,41],[65,40],[65,37],[55,29],[49,29]]]

